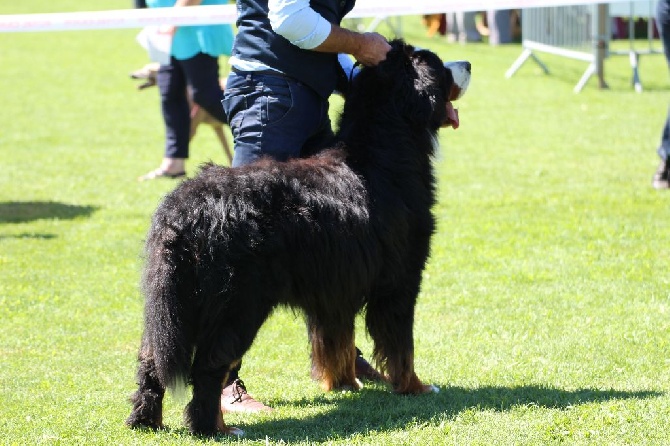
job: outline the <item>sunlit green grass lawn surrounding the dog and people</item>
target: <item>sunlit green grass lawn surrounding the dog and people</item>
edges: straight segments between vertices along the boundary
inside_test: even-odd
[[[0,14],[123,9],[32,0]],[[381,29],[384,31],[384,28]],[[439,230],[416,314],[419,376],[437,395],[368,384],[322,393],[299,315],[280,310],[245,357],[276,410],[227,416],[240,444],[670,444],[670,193],[651,188],[670,101],[662,56],[626,57],[572,89],[582,62],[518,45],[408,41],[473,64],[461,128],[441,133]],[[200,444],[168,397],[159,432],[124,426],[142,330],[141,248],[171,181],[138,30],[0,34],[0,444]],[[334,112],[341,105],[333,101]],[[188,163],[224,163],[200,129]],[[359,321],[357,344],[371,344]]]

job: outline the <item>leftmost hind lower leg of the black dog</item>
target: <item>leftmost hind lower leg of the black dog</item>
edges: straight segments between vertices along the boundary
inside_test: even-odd
[[[137,371],[139,388],[131,396],[133,410],[126,424],[130,427],[149,427],[160,429],[163,427],[163,387],[156,373],[156,364],[153,354],[146,342],[142,342],[139,353],[140,365]]]

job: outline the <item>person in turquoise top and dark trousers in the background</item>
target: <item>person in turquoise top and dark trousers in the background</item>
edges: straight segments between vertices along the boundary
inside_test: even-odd
[[[195,5],[223,5],[227,0],[146,0],[149,8]],[[161,65],[157,83],[165,122],[165,156],[161,165],[139,178],[179,178],[186,175],[191,108],[187,85],[193,101],[221,122],[226,115],[221,109],[223,91],[219,84],[219,56],[230,55],[233,29],[229,24],[202,26],[166,26],[172,35],[170,63]]]

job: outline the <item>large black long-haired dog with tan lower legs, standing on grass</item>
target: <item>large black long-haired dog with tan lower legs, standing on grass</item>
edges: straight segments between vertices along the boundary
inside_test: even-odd
[[[278,305],[306,315],[314,377],[359,388],[354,318],[393,390],[414,372],[414,307],[435,229],[431,155],[453,78],[432,52],[391,42],[354,79],[334,148],[312,157],[205,166],[156,210],[146,241],[139,388],[126,421],[162,427],[166,387],[188,382],[198,434],[229,432],[219,397]]]

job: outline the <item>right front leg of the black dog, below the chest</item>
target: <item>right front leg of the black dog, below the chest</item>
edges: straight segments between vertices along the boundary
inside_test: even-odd
[[[414,302],[412,298],[373,299],[368,303],[365,319],[375,343],[374,359],[387,372],[393,391],[401,394],[438,391],[423,384],[414,372]]]

